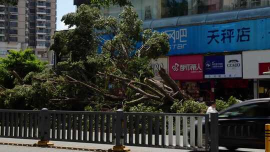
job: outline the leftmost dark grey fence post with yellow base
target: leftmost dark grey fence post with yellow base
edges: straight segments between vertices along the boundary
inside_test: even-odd
[[[49,142],[50,115],[47,108],[42,108],[39,112],[38,134],[40,140],[35,145],[39,146],[53,145],[53,143]]]

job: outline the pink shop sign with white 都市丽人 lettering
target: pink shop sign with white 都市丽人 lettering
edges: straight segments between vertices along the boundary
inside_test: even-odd
[[[169,56],[169,75],[174,80],[203,79],[203,56]]]

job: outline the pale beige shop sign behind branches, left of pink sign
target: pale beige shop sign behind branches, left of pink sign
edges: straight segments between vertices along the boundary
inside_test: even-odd
[[[166,73],[168,73],[168,57],[165,56],[152,59],[150,62],[150,67],[152,68],[152,71],[154,73],[154,78],[160,79],[160,76],[158,74],[160,68],[164,68]]]

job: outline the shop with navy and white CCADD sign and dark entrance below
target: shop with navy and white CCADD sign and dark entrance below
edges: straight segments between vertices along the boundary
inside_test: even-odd
[[[249,95],[253,91],[253,81],[242,79],[241,54],[204,56],[204,78],[211,79],[214,84],[215,98],[253,98]]]

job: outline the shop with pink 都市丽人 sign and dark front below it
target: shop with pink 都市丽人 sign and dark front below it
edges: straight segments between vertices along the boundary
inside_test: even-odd
[[[210,81],[203,79],[203,55],[169,56],[169,75],[195,100],[212,97]]]

